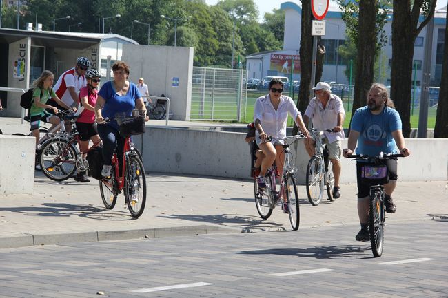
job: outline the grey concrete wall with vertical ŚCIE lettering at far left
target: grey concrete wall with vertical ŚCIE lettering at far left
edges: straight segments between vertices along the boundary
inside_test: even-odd
[[[8,57],[8,86],[10,88],[26,89],[30,81],[30,70],[28,65],[30,63],[31,52],[31,38],[21,39],[9,45],[9,57]],[[25,69],[23,78],[14,78],[14,61],[21,60],[25,63]],[[8,117],[20,117],[20,92],[8,92],[8,109],[6,116]]]

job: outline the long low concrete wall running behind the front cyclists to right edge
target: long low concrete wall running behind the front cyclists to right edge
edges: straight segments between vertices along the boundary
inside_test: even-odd
[[[248,178],[250,153],[244,137],[243,133],[148,127],[143,136],[143,162],[149,172]],[[134,138],[139,149],[141,139]],[[448,180],[448,139],[408,138],[406,143],[412,155],[398,162],[400,180]],[[343,147],[346,145],[347,140]],[[292,152],[299,169],[298,182],[305,184],[309,157],[302,140],[294,143]],[[356,182],[356,162],[347,158],[341,162],[341,182]]]

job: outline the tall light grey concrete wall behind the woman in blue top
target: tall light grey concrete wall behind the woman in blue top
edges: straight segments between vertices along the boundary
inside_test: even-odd
[[[193,54],[192,47],[123,45],[122,60],[130,65],[130,81],[143,77],[150,94],[170,98],[170,119],[190,120]],[[179,86],[173,78],[179,78]]]

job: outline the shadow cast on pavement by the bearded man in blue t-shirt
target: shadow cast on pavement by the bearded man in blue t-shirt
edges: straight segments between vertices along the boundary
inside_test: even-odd
[[[315,259],[369,259],[364,255],[370,252],[370,246],[316,246],[314,248],[272,248],[256,251],[241,251],[243,255],[296,255],[297,257],[313,257]]]

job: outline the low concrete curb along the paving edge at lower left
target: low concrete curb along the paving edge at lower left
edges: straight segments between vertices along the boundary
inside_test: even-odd
[[[0,237],[1,248],[23,246],[69,244],[74,242],[99,242],[110,240],[128,240],[136,238],[162,238],[174,236],[193,236],[216,233],[244,233],[241,228],[229,228],[201,224],[197,226],[176,226],[163,228],[143,228],[122,231],[86,231],[77,233],[20,234]]]

